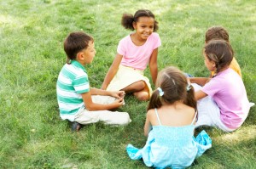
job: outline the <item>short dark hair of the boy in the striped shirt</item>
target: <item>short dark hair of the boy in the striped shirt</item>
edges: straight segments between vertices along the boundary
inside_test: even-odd
[[[67,54],[67,64],[70,60],[76,59],[77,54],[88,47],[89,42],[93,42],[93,38],[82,31],[70,33],[64,41],[64,50]]]

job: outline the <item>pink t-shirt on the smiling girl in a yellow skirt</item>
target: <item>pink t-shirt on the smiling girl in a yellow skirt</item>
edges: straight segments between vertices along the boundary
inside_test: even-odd
[[[121,65],[133,67],[137,70],[145,70],[147,68],[150,56],[155,48],[160,47],[160,37],[158,33],[153,32],[143,44],[136,46],[130,35],[119,41],[117,53],[123,55]]]

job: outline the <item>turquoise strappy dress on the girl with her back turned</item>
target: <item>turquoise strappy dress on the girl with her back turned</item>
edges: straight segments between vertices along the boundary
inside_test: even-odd
[[[158,115],[157,110],[155,110],[155,114]],[[197,141],[205,138],[206,145],[195,141],[195,125],[193,124],[195,117],[189,125],[180,127],[164,126],[160,119],[158,122],[158,126],[152,126],[152,131],[148,134],[148,141],[142,149],[142,157],[146,166],[160,168],[190,166],[196,156],[202,155],[206,149],[212,146],[212,141],[206,132],[201,132],[196,138]],[[130,145],[129,149],[131,148],[133,149]]]

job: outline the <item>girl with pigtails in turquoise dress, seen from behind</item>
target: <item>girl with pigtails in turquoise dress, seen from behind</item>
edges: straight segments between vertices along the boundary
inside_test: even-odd
[[[167,67],[157,77],[158,87],[148,104],[143,149],[128,144],[132,160],[143,158],[146,166],[184,168],[212,147],[207,132],[195,138],[196,101],[193,87],[175,67]]]

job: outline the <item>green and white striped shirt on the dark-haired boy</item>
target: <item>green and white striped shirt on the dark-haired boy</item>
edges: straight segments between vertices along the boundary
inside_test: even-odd
[[[81,93],[90,91],[90,82],[84,66],[72,60],[64,65],[58,76],[57,99],[62,120],[74,121],[74,116],[84,109]]]

